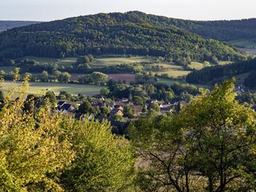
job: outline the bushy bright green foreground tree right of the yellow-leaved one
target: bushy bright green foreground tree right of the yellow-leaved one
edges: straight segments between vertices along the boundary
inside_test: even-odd
[[[73,122],[70,135],[76,158],[62,174],[66,190],[131,191],[134,151],[125,138],[111,134],[109,122]]]

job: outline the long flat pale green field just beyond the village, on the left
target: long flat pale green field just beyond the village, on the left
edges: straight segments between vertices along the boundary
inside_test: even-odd
[[[21,82],[4,82],[2,85],[2,90],[7,91],[11,87],[20,86]],[[54,91],[54,94],[59,94],[61,90],[65,90],[70,94],[84,94],[86,96],[93,96],[99,94],[99,91],[104,86],[94,86],[94,85],[79,85],[79,84],[64,84],[57,82],[30,82],[30,89],[27,90],[27,93],[30,94],[45,94],[47,90]]]

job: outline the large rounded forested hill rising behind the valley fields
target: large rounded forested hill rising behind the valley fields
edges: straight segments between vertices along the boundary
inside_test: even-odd
[[[148,17],[152,17],[148,15]],[[196,60],[242,60],[233,46],[176,26],[161,26],[138,12],[94,14],[42,22],[0,34],[0,58],[64,58],[84,54],[137,54]]]

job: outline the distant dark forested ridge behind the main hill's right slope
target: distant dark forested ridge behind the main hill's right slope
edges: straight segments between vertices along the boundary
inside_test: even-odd
[[[146,22],[157,26],[177,26],[203,38],[214,38],[219,41],[231,41],[238,38],[254,39],[256,41],[256,18],[223,21],[191,21],[177,18],[166,18],[153,14],[131,11]]]

